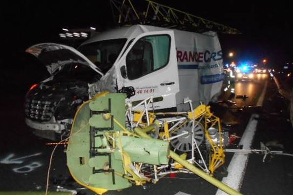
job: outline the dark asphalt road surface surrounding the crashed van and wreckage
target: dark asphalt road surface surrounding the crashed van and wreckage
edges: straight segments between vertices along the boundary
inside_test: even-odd
[[[283,145],[284,151],[293,153],[292,127],[288,122],[288,102],[278,96],[272,80],[269,80],[268,91],[263,109],[253,107],[246,109],[242,106],[256,105],[264,87],[264,81],[239,81],[235,85],[236,95],[247,95],[247,99],[233,98],[232,103],[213,104],[212,111],[228,124],[230,133],[239,137],[247,125],[252,113],[260,114],[253,148],[259,149],[259,143],[268,143],[277,140]],[[35,137],[24,124],[23,100],[27,87],[18,86],[17,89],[6,90],[6,96],[1,100],[0,112],[2,136],[0,137],[0,191],[44,191],[49,157],[53,149],[45,143],[49,140]],[[15,88],[14,88],[15,89]],[[229,96],[226,95],[226,96]],[[270,143],[270,142],[269,142]],[[277,144],[277,146],[280,146]],[[230,146],[238,147],[237,140]],[[276,147],[273,145],[273,147]],[[80,195],[91,195],[92,192],[75,183],[66,167],[64,147],[59,146],[55,152],[51,176],[50,190],[55,191],[57,186],[74,189]],[[35,155],[35,156],[32,156]],[[225,167],[229,165],[232,154],[227,154],[227,162],[218,171],[216,177],[222,179],[226,174]],[[250,155],[241,192],[250,195],[293,194],[293,168],[290,156],[274,156],[262,162],[261,155]],[[3,160],[5,163],[3,163]],[[195,175],[180,174],[176,178],[165,177],[158,184],[133,186],[121,192],[112,191],[108,195],[175,195],[178,192],[189,195],[214,195],[217,189]],[[287,194],[286,194],[287,193]]]

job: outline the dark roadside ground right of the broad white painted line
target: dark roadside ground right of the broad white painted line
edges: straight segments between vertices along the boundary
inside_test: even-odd
[[[260,149],[260,142],[271,150],[293,154],[293,129],[289,121],[290,102],[276,91],[270,80],[260,113],[252,147]],[[245,195],[292,195],[293,156],[251,154],[241,192]]]

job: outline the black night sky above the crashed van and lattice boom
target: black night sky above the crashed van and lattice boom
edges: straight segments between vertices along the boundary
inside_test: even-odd
[[[267,58],[268,65],[280,67],[293,62],[293,6],[289,1],[156,2],[240,30],[242,35],[219,36],[226,55],[229,51],[236,52],[235,60],[257,63]],[[24,50],[33,44],[59,42],[58,34],[63,27],[95,26],[104,30],[114,25],[107,0],[10,0],[6,3],[1,6],[5,49],[0,63],[6,64],[1,69],[22,66],[22,59],[26,58]],[[7,63],[11,59],[14,62]]]

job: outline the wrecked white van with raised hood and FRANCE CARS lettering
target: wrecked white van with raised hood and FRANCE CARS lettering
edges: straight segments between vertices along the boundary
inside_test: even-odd
[[[69,132],[82,102],[102,91],[132,102],[152,96],[154,110],[183,111],[183,99],[209,103],[220,93],[223,53],[214,32],[198,34],[147,25],[120,27],[77,50],[56,43],[31,46],[51,74],[26,95],[25,121],[40,137]]]

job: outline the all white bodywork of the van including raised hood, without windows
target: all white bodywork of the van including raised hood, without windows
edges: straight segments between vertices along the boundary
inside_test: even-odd
[[[166,66],[139,78],[123,78],[121,67],[127,67],[127,55],[135,44],[143,37],[158,35],[170,37],[169,59]],[[99,33],[86,40],[82,46],[111,39],[126,39],[126,43],[116,61],[104,76],[96,83],[88,83],[90,98],[102,91],[116,93],[122,87],[132,86],[136,90],[136,95],[130,97],[130,101],[143,100],[150,96],[153,98],[162,97],[163,100],[154,103],[154,109],[175,108],[177,111],[186,111],[189,107],[183,103],[184,98],[191,99],[195,107],[199,102],[209,103],[212,98],[220,93],[224,78],[223,54],[216,33],[198,34],[155,26],[133,25]],[[93,70],[103,75],[90,59],[69,46],[43,43],[30,47],[27,52],[39,58],[40,53],[52,50],[68,50],[73,56],[69,55],[69,59],[64,60],[58,59],[57,55],[54,57],[54,62],[44,63],[51,74],[61,69],[66,63],[79,62],[89,65]],[[56,122],[56,124],[59,123]],[[28,125],[39,127],[37,121],[32,121]],[[60,130],[47,127],[46,130],[60,132]],[[41,127],[37,129],[45,130]]]

